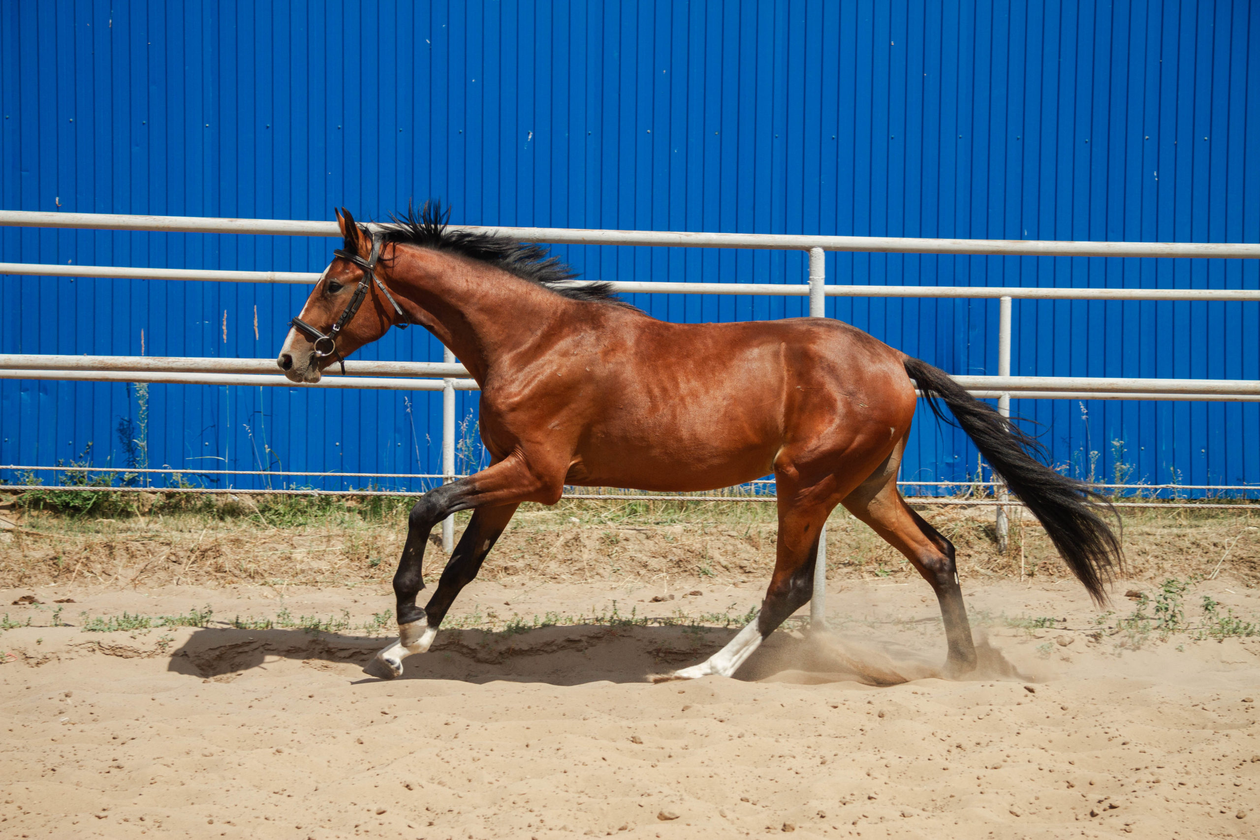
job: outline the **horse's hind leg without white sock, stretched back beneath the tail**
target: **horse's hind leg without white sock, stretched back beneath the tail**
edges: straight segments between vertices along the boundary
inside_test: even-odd
[[[975,669],[976,657],[958,567],[954,563],[954,544],[910,509],[897,492],[895,477],[878,487],[858,487],[843,504],[885,542],[905,554],[932,587],[940,603],[949,645],[945,671],[950,676],[960,676]]]

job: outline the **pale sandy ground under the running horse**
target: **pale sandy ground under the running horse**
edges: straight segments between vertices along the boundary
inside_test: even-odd
[[[703,589],[653,603],[663,593],[641,586],[485,581],[457,612],[745,612],[761,586]],[[776,633],[738,679],[658,685],[646,676],[733,630],[457,630],[383,681],[362,667],[383,640],[363,631],[218,622],[282,608],[362,622],[387,592],[0,592],[43,601],[0,608],[33,625],[66,597],[76,625],[81,610],[215,613],[205,628],[0,635],[0,836],[1260,836],[1260,639],[1113,633],[1075,583],[966,586],[983,664],[961,681],[937,673],[917,582],[845,583],[835,632]],[[1257,620],[1260,591],[1221,579],[1187,596],[1187,618],[1203,593]]]

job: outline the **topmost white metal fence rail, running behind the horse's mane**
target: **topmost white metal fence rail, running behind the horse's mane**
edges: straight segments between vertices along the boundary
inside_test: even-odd
[[[340,237],[336,222],[294,219],[214,219],[179,215],[53,213],[0,210],[0,225],[156,230],[171,233],[244,233]],[[378,225],[369,225],[378,227]],[[856,251],[868,253],[955,253],[1005,257],[1163,257],[1260,259],[1260,244],[1218,242],[1045,242],[1026,239],[920,239],[910,237],[827,237],[784,233],[692,233],[682,230],[583,230],[577,228],[509,228],[451,225],[498,233],[520,242],[667,248],[766,248],[779,251]]]

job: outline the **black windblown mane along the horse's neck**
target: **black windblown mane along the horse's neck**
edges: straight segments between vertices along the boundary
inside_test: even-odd
[[[571,286],[568,281],[576,278],[577,272],[559,257],[552,257],[543,246],[517,242],[494,233],[451,230],[449,227],[451,210],[444,209],[441,201],[425,201],[418,213],[413,207],[408,207],[406,214],[391,214],[391,218],[393,224],[381,225],[386,242],[447,251],[478,259],[570,300],[635,309],[619,298],[609,282]],[[354,243],[346,241],[345,249],[354,253],[353,247]]]

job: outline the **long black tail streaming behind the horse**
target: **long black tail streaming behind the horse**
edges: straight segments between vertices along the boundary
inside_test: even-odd
[[[905,364],[932,413],[949,422],[935,399],[940,397],[993,471],[1041,521],[1067,567],[1097,603],[1105,603],[1102,587],[1111,579],[1113,569],[1119,570],[1123,563],[1120,540],[1097,514],[1100,506],[1110,505],[1089,485],[1034,460],[1029,451],[1042,453],[1037,441],[992,406],[966,393],[944,370],[908,356]]]

